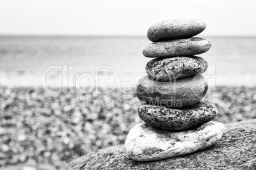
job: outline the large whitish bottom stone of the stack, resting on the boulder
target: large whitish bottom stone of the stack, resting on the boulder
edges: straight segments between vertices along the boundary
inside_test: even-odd
[[[125,152],[138,161],[167,159],[210,147],[220,140],[224,132],[224,124],[213,121],[181,132],[164,131],[143,122],[129,132]]]

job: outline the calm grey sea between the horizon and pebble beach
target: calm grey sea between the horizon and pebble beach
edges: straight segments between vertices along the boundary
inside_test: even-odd
[[[211,49],[198,56],[208,62],[206,78],[217,85],[256,85],[256,37],[205,38]],[[99,76],[101,86],[117,79],[129,81],[131,76],[138,81],[152,59],[142,54],[150,43],[146,36],[0,36],[0,84],[41,86],[45,73],[48,84],[55,86],[64,81],[72,86],[79,76],[88,85],[92,81],[89,74],[94,81]],[[63,80],[65,76],[67,80]]]

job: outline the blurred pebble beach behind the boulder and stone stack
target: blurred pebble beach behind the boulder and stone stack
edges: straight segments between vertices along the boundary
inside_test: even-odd
[[[103,89],[100,89],[103,91]],[[112,145],[124,144],[140,121],[135,93],[51,95],[41,88],[0,88],[0,167],[27,160],[53,169]],[[208,95],[217,105],[215,121],[256,118],[256,87],[217,86]],[[40,167],[38,167],[40,169]]]

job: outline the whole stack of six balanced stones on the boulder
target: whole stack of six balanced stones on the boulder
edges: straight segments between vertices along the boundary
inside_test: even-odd
[[[193,37],[206,23],[196,18],[167,20],[148,29],[152,44],[143,55],[146,75],[136,85],[141,100],[139,117],[125,140],[125,152],[138,161],[161,160],[210,147],[225,132],[213,122],[218,110],[203,99],[208,82],[201,73],[208,63],[199,55],[211,47],[207,39]]]

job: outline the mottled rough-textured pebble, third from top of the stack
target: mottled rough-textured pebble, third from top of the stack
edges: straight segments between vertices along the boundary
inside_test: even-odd
[[[205,72],[208,63],[199,56],[155,58],[146,63],[146,73],[157,81],[173,81]]]

